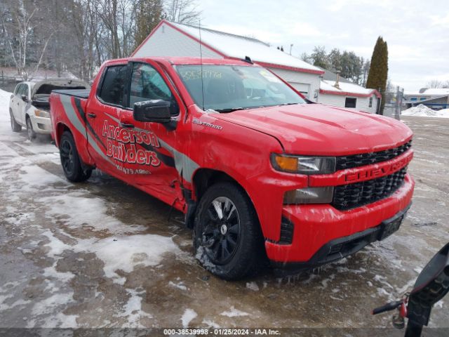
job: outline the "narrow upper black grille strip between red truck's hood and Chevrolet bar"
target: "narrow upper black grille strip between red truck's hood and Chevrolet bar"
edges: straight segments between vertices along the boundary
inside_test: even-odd
[[[358,166],[365,166],[393,159],[406,152],[410,147],[412,147],[412,140],[401,146],[395,147],[394,149],[337,157],[336,170],[352,169]]]

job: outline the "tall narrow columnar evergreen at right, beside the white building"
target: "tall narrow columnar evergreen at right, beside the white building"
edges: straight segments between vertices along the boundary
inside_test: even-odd
[[[387,88],[388,77],[388,46],[382,37],[377,38],[371,57],[370,72],[366,81],[367,88],[380,89],[382,93],[382,104],[380,105],[380,114],[384,114],[385,89]]]

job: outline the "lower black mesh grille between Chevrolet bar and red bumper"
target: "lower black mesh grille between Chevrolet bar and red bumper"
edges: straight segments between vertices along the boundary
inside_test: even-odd
[[[389,197],[401,187],[406,173],[407,168],[404,167],[389,176],[361,183],[335,186],[332,206],[346,211]]]

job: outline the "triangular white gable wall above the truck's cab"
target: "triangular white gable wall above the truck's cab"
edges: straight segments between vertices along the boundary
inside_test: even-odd
[[[202,47],[203,58],[222,58],[209,48]],[[199,43],[185,34],[163,23],[145,44],[135,53],[135,57],[145,56],[200,56]]]

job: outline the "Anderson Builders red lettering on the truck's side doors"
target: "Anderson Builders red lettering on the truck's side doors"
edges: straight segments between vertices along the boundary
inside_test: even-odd
[[[109,125],[108,121],[105,120],[102,136],[107,138],[106,155],[108,157],[128,164],[161,165],[161,161],[157,157],[156,152],[138,149],[136,147],[138,144],[161,147],[159,140],[151,131],[128,130],[127,128]]]

